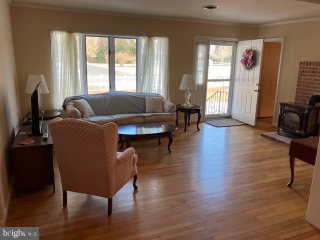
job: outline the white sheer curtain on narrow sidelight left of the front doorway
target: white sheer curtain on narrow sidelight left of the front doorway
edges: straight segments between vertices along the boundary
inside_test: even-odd
[[[209,45],[205,42],[195,43],[195,64],[194,75],[197,86],[203,86],[205,83],[208,66]]]

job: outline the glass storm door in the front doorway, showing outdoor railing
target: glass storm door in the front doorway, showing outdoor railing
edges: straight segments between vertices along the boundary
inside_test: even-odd
[[[211,43],[209,48],[205,116],[230,114],[235,44]]]

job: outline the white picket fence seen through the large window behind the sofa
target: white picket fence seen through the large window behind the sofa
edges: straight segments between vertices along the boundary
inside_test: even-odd
[[[136,88],[135,76],[115,76],[116,90],[130,90]],[[88,91],[109,91],[108,76],[88,76]]]

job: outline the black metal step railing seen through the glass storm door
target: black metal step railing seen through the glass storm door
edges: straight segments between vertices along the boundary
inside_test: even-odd
[[[227,113],[228,97],[228,91],[217,90],[214,92],[208,99],[206,99],[205,115]]]

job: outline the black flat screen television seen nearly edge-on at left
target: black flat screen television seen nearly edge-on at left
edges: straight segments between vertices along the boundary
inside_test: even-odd
[[[39,82],[31,95],[31,129],[32,135],[42,135],[42,94],[41,82]]]

